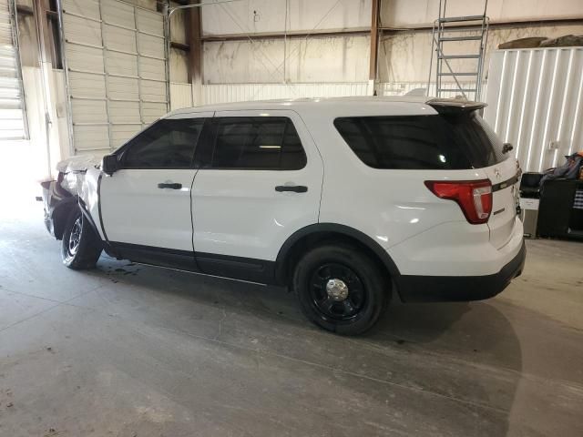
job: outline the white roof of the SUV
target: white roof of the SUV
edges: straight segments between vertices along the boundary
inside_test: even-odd
[[[379,104],[399,106],[404,105],[411,109],[418,110],[420,113],[425,113],[427,109],[435,109],[435,107],[458,107],[460,109],[471,109],[483,104],[470,102],[459,99],[435,99],[424,96],[395,96],[395,97],[311,97],[311,98],[289,98],[278,100],[259,100],[251,102],[234,102],[234,103],[220,103],[215,105],[202,105],[199,107],[184,107],[176,109],[169,113],[167,117],[188,115],[199,113],[203,111],[229,111],[229,110],[273,110],[273,109],[292,109],[300,111],[321,111],[323,108],[327,110],[338,110],[342,108],[370,108],[377,107]],[[407,112],[409,112],[407,111]],[[433,110],[432,110],[433,112]]]

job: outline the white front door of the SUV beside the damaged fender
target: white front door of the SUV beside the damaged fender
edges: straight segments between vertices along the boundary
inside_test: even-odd
[[[116,152],[121,169],[102,176],[99,201],[107,240],[123,258],[194,266],[192,159],[208,117],[161,119]]]

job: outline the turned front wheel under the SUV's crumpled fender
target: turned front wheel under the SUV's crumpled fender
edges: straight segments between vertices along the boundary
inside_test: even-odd
[[[61,241],[61,259],[69,269],[93,269],[103,246],[81,209],[69,216]]]

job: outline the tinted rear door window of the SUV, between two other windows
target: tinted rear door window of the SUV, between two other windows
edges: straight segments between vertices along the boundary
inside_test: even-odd
[[[294,170],[306,156],[287,117],[218,117],[210,168]]]

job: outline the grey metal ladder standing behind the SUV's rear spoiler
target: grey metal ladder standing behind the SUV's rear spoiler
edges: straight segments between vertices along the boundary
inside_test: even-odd
[[[484,0],[482,15],[446,16],[447,0],[439,0],[439,18],[435,20],[431,34],[431,61],[429,63],[427,95],[429,95],[431,85],[435,52],[435,97],[454,97],[454,94],[461,93],[466,100],[479,101],[482,90],[484,52],[488,38],[487,4],[487,0]],[[476,52],[463,55],[451,54],[455,44],[462,42],[475,42]],[[474,59],[476,66],[465,68],[463,71],[455,71],[456,63],[461,59]],[[452,60],[455,64],[454,67],[450,63]],[[448,81],[444,83],[444,77],[453,78],[455,88],[444,88],[444,84],[448,83]],[[467,87],[467,83],[463,82],[460,77],[473,78],[472,86]]]

